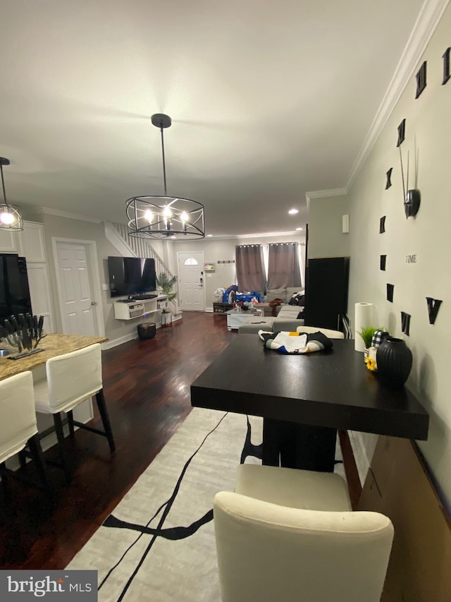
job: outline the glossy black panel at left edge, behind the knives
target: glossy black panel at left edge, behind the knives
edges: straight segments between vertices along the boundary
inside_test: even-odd
[[[27,262],[25,257],[0,253],[0,324],[19,313],[32,314]]]

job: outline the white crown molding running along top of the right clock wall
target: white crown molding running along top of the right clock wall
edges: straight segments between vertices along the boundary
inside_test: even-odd
[[[442,18],[449,1],[450,0],[426,0],[421,7],[421,11],[416,19],[409,40],[407,40],[404,52],[402,52],[400,61],[393,74],[393,78],[390,80],[387,92],[385,92],[378,112],[373,119],[373,123],[371,124],[362,148],[360,149],[359,155],[357,155],[357,159],[352,166],[350,177],[345,187],[346,194],[350,190],[360,169],[362,169],[366,158],[380,136],[393,109],[395,109],[397,102],[400,100],[402,92],[404,92],[410,78],[412,78],[416,66],[421,59],[421,55],[424,54],[426,46],[429,40],[431,40],[433,32]]]

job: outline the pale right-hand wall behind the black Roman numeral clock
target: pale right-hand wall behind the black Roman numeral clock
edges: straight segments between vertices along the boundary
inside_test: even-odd
[[[451,80],[441,85],[442,55],[451,45],[450,32],[451,7],[448,6],[406,90],[352,185],[347,202],[351,257],[349,307],[362,300],[375,303],[378,323],[386,325],[392,335],[404,337],[412,349],[414,365],[407,385],[419,396],[431,416],[428,441],[419,442],[419,446],[443,497],[451,506],[451,370],[448,358],[451,332],[451,203],[448,192]],[[415,73],[424,60],[428,61],[427,86],[414,100]],[[419,213],[409,219],[404,215],[400,156],[396,148],[397,126],[404,118],[406,139],[401,147],[404,174],[409,151],[409,187],[414,185],[413,159],[417,155],[417,187],[421,191]],[[390,167],[393,167],[393,186],[385,190],[385,172]],[[321,201],[323,199],[314,199],[312,203],[319,206]],[[386,231],[379,234],[379,219],[383,215],[386,215]],[[328,215],[323,215],[321,225],[327,219]],[[311,219],[309,221],[311,224]],[[310,232],[312,229],[313,224]],[[323,241],[325,248],[328,243]],[[321,242],[315,248],[321,249]],[[385,272],[379,269],[382,254],[387,255]],[[416,254],[417,262],[406,263],[405,255],[413,254]],[[393,303],[386,300],[387,283],[395,285]],[[426,296],[443,300],[435,325],[429,324]],[[412,315],[409,337],[402,335],[401,311]],[[366,447],[371,458],[371,438],[367,438]]]

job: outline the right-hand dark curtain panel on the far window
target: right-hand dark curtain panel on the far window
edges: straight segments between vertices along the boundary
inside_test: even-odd
[[[268,289],[301,286],[299,243],[269,245]]]

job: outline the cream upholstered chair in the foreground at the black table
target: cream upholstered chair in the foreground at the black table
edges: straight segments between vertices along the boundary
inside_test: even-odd
[[[223,602],[376,602],[393,525],[352,512],[342,477],[242,464],[214,498]]]

